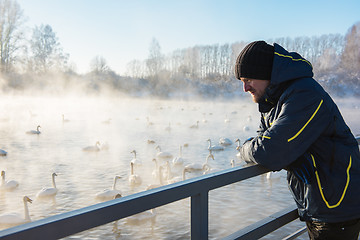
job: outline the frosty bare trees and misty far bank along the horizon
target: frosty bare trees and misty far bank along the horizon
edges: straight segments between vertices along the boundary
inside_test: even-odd
[[[31,91],[66,94],[111,94],[136,97],[191,98],[241,95],[234,63],[248,42],[197,45],[164,54],[154,38],[147,59],[133,60],[120,76],[102,56],[94,56],[90,71],[78,74],[69,63],[50,25],[26,29],[15,0],[0,0],[0,89],[22,94]],[[25,32],[31,32],[28,37]],[[337,96],[360,96],[360,22],[345,36],[264,39],[296,51],[308,59],[315,79]]]

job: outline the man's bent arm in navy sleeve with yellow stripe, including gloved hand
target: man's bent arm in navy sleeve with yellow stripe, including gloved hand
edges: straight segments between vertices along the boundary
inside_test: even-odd
[[[262,135],[244,143],[241,157],[279,171],[303,155],[331,121],[316,92],[294,89],[280,98],[280,113]]]

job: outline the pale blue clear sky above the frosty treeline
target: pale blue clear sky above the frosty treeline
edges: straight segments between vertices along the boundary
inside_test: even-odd
[[[122,75],[145,60],[196,45],[343,34],[360,21],[360,1],[17,0],[30,28],[48,24],[78,73],[96,56]],[[31,36],[31,35],[30,35]]]

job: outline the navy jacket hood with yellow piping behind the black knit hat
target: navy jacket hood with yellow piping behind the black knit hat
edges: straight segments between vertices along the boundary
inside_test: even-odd
[[[274,62],[271,85],[278,85],[297,78],[313,77],[311,63],[296,52],[288,52],[274,43]]]

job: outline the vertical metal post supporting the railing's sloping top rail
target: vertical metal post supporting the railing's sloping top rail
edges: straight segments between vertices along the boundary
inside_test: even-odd
[[[209,192],[191,196],[191,239],[208,239]]]

